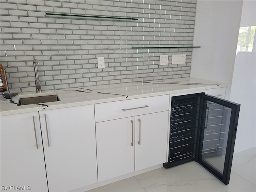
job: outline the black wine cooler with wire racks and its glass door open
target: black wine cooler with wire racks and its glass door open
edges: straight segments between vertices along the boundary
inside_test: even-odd
[[[169,161],[165,168],[195,160],[229,183],[240,104],[204,93],[172,97]]]

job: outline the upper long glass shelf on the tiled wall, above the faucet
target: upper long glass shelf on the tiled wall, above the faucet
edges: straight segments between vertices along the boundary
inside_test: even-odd
[[[62,14],[62,13],[45,13],[45,16],[60,18],[77,18],[77,19],[106,19],[106,20],[138,20],[131,17],[110,17],[110,16],[94,16],[94,15],[78,15],[78,14]]]

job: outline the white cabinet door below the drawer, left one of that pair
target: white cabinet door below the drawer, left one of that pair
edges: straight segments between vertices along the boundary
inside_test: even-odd
[[[134,117],[96,123],[98,180],[134,171]]]

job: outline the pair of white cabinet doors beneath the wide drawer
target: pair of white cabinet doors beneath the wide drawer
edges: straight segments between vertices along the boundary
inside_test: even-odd
[[[96,123],[98,181],[166,162],[168,111]]]

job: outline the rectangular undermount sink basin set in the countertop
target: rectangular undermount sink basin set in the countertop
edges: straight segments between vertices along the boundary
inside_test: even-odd
[[[57,94],[51,95],[40,95],[40,96],[31,96],[31,97],[20,97],[18,99],[18,105],[28,105],[28,104],[41,104],[47,102],[60,101],[60,98]]]

